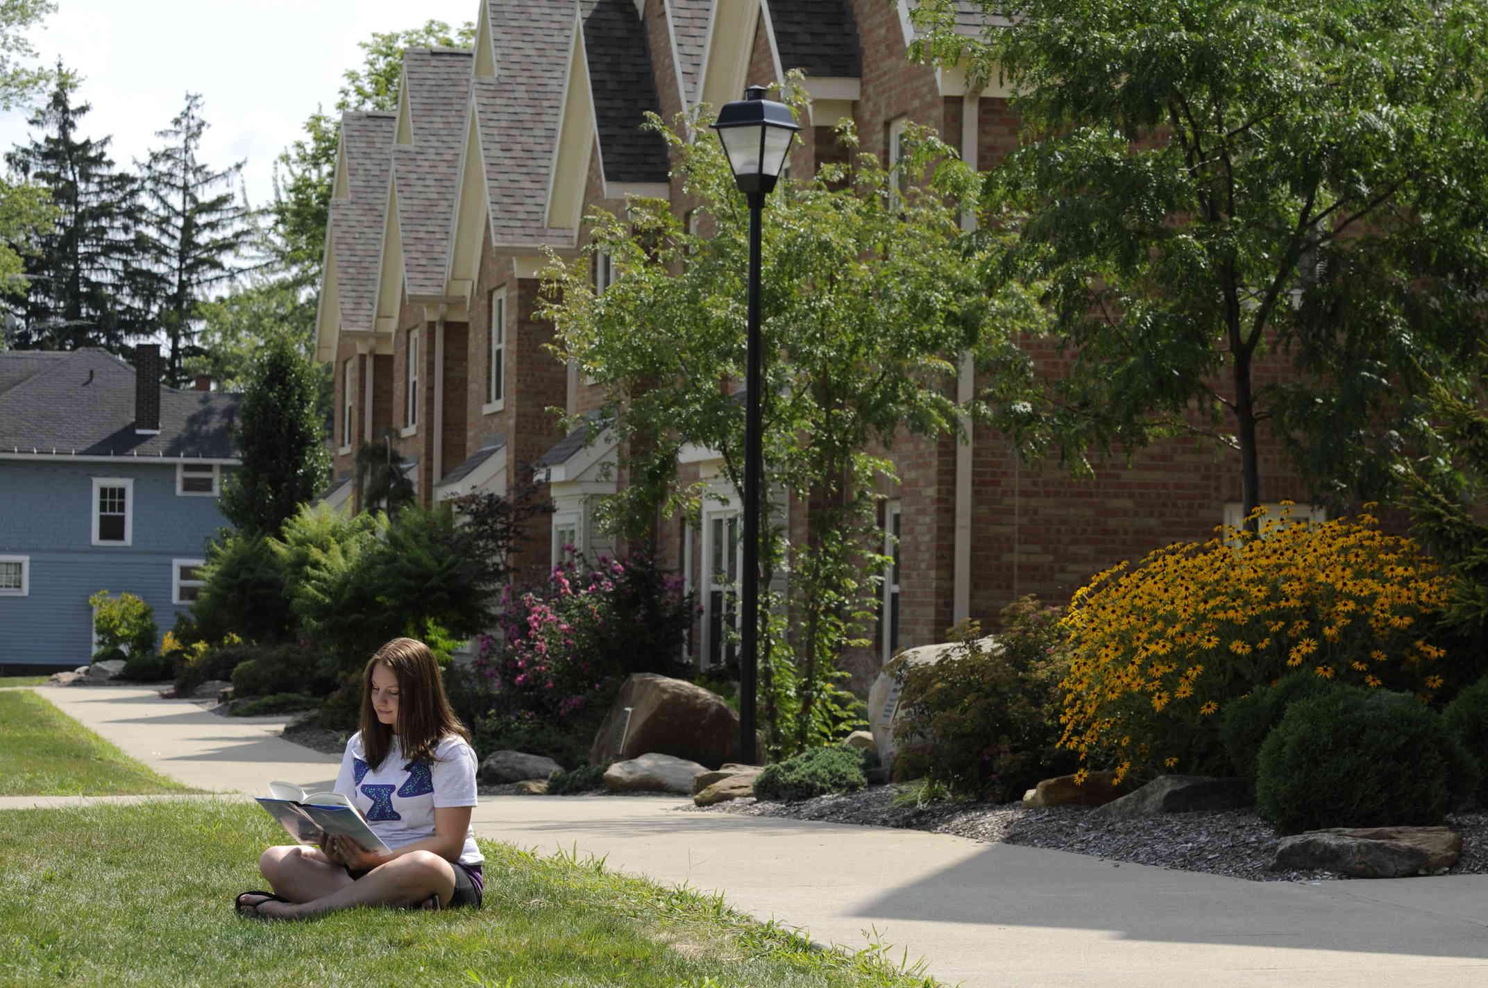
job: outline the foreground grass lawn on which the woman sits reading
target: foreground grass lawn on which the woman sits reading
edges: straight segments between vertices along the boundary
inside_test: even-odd
[[[594,862],[485,853],[485,908],[238,920],[284,833],[225,801],[0,814],[0,985],[933,988],[873,949],[812,949],[722,900]]]

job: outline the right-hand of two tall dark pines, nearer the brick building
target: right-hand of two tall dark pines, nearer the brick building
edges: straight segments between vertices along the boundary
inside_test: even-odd
[[[186,107],[156,132],[164,147],[141,165],[146,263],[134,272],[141,309],[165,333],[170,353],[167,384],[185,379],[185,363],[201,356],[198,307],[214,286],[247,268],[244,254],[257,231],[246,202],[232,190],[243,162],[213,171],[201,161],[207,122],[201,95],[186,94]],[[219,189],[223,189],[219,192]]]

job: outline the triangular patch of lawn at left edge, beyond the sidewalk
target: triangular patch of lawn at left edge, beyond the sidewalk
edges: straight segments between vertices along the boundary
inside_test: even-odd
[[[190,793],[24,689],[0,692],[0,796]]]

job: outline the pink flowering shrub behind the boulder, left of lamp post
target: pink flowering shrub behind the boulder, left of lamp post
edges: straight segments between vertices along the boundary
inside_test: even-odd
[[[493,713],[549,723],[603,716],[631,673],[677,676],[695,606],[653,559],[571,558],[546,586],[507,588],[500,634],[482,635],[475,667]]]

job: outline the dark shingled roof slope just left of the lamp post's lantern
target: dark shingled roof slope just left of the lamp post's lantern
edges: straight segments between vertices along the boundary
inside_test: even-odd
[[[661,113],[646,25],[631,0],[583,0],[582,7],[604,179],[667,182],[667,143],[641,129],[647,110]]]

